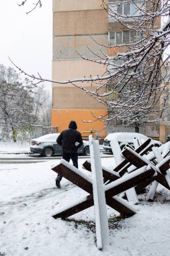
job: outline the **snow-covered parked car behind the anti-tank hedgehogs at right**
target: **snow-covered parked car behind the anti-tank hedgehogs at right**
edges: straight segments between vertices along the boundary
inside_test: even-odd
[[[133,139],[138,138],[141,142],[146,141],[148,137],[146,135],[143,135],[141,133],[109,133],[108,136],[105,137],[103,142],[103,149],[105,151],[112,152],[112,148],[110,146],[110,141],[112,139],[116,138],[120,144],[120,149],[122,150],[124,146],[128,143],[132,148],[134,148]],[[155,146],[160,147],[162,143],[160,141],[157,141],[155,139],[152,139],[151,141]]]

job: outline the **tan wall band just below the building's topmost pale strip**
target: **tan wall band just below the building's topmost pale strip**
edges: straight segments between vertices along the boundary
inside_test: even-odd
[[[105,10],[53,13],[53,35],[103,34],[108,32]]]

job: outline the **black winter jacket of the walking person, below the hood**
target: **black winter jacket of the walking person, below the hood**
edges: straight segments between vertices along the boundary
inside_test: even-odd
[[[83,145],[81,133],[73,128],[62,131],[56,142],[62,146],[62,152],[69,154],[77,153],[78,148]],[[79,143],[78,146],[75,145],[76,142]]]

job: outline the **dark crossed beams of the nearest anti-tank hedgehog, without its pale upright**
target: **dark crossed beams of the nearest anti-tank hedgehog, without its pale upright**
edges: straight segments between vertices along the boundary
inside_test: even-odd
[[[61,163],[57,166],[54,166],[52,170],[54,170],[54,172],[57,172],[58,174],[61,174],[63,177],[65,177],[66,179],[90,194],[85,198],[84,201],[81,201],[81,203],[75,203],[75,205],[72,205],[70,208],[68,207],[66,210],[55,214],[53,216],[54,218],[67,218],[93,205],[92,182],[90,181],[88,176],[86,176],[86,178],[88,177],[88,179],[85,179],[85,174],[81,176],[81,172],[79,172],[79,174],[75,173],[77,172],[77,168],[75,168],[65,160],[61,160]],[[118,194],[126,191],[127,189],[130,189],[131,187],[134,187],[146,181],[146,179],[151,179],[153,175],[155,175],[155,170],[153,168],[147,168],[147,166],[144,166],[144,168],[136,170],[135,172],[130,173],[126,177],[120,177],[120,179],[117,179],[116,181],[112,181],[112,183],[105,185],[105,188],[107,188],[105,189],[106,203],[124,216],[134,215],[136,213],[134,207],[128,205],[128,203],[124,203],[124,200],[121,200],[120,197],[118,197],[119,199],[117,199],[117,197],[114,196],[117,196]]]

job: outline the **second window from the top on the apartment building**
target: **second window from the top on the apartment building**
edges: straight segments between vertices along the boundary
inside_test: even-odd
[[[139,40],[141,37],[140,32],[138,31],[109,31],[108,33],[109,45],[121,45],[121,44],[130,44]]]

